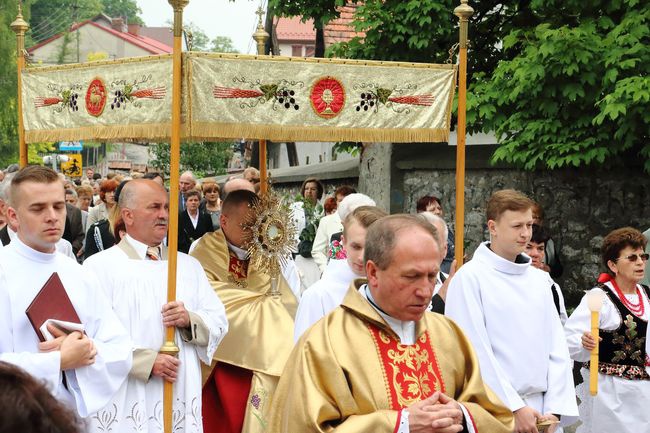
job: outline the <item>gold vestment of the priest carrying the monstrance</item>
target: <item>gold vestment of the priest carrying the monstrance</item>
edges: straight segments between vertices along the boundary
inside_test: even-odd
[[[253,373],[242,432],[270,431],[269,403],[293,349],[296,297],[281,275],[281,296],[271,296],[270,276],[231,253],[221,230],[203,236],[192,256],[201,262],[228,317],[228,334],[214,360]]]

